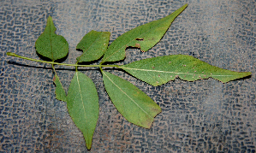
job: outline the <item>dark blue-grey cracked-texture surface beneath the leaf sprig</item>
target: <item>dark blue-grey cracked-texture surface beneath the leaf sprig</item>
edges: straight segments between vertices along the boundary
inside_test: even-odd
[[[152,128],[145,129],[116,111],[97,68],[83,71],[97,87],[100,106],[90,152],[255,152],[255,0],[0,0],[0,152],[87,152],[66,103],[55,98],[51,65],[5,54],[11,51],[39,59],[34,44],[49,15],[57,34],[68,41],[65,62],[74,63],[81,54],[75,46],[87,32],[109,31],[112,42],[185,3],[188,8],[152,50],[127,50],[122,63],[184,54],[253,75],[226,84],[215,79],[176,79],[153,87],[110,70],[145,91],[163,109]],[[57,69],[68,90],[74,68]]]

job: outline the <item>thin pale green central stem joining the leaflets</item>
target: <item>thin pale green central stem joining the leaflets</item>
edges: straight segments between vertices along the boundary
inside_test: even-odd
[[[18,58],[22,58],[25,60],[29,60],[29,61],[33,61],[33,62],[45,62],[45,63],[49,63],[49,64],[56,64],[56,65],[64,65],[64,66],[72,66],[72,67],[116,67],[119,68],[119,65],[79,65],[79,64],[66,64],[66,63],[59,63],[59,62],[48,62],[48,61],[42,61],[42,60],[37,60],[37,59],[33,59],[33,58],[28,58],[25,56],[19,56],[16,55],[15,53],[12,52],[7,52],[6,55],[8,56],[15,56]]]

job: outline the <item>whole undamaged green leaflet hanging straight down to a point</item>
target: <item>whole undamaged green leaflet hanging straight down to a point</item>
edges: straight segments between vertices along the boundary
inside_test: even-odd
[[[75,72],[68,88],[68,112],[86,140],[88,150],[98,121],[98,93],[92,79]]]

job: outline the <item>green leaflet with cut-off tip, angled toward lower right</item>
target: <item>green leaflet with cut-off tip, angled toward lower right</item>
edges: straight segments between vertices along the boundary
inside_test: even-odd
[[[104,71],[102,74],[105,89],[116,109],[129,122],[150,128],[154,117],[161,112],[158,104],[127,80]]]

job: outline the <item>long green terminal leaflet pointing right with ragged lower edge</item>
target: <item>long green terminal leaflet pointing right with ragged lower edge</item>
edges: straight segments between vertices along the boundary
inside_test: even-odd
[[[131,62],[119,68],[154,86],[163,85],[177,77],[188,81],[211,77],[226,83],[252,74],[250,72],[239,73],[217,68],[193,56],[185,55],[158,56]]]

